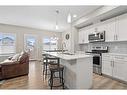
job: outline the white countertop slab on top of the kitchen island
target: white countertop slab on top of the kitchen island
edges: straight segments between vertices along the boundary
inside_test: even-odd
[[[92,57],[92,55],[86,55],[86,54],[68,55],[68,54],[62,54],[62,53],[57,53],[57,52],[45,52],[45,54],[49,54],[54,57],[58,57],[58,58],[65,59],[65,60],[73,60],[73,59],[79,59],[79,58]]]

